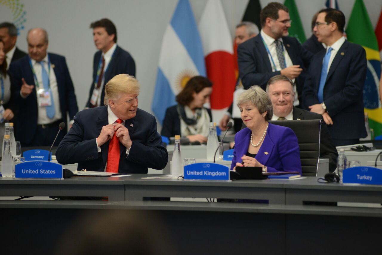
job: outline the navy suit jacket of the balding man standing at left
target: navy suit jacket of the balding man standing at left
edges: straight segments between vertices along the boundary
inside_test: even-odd
[[[53,53],[48,54],[57,80],[62,121],[65,122],[65,127],[67,127],[66,113],[69,114],[69,118],[72,120],[78,112],[73,82],[70,78],[65,57]],[[38,109],[36,86],[25,99],[20,96],[21,85],[23,84],[21,78],[24,78],[27,84],[35,85],[28,55],[12,62],[9,67],[9,73],[13,76],[15,86],[14,97],[16,103],[19,104],[19,112],[15,121],[15,133],[21,145],[29,144],[36,132]],[[62,132],[66,133],[66,128]]]

